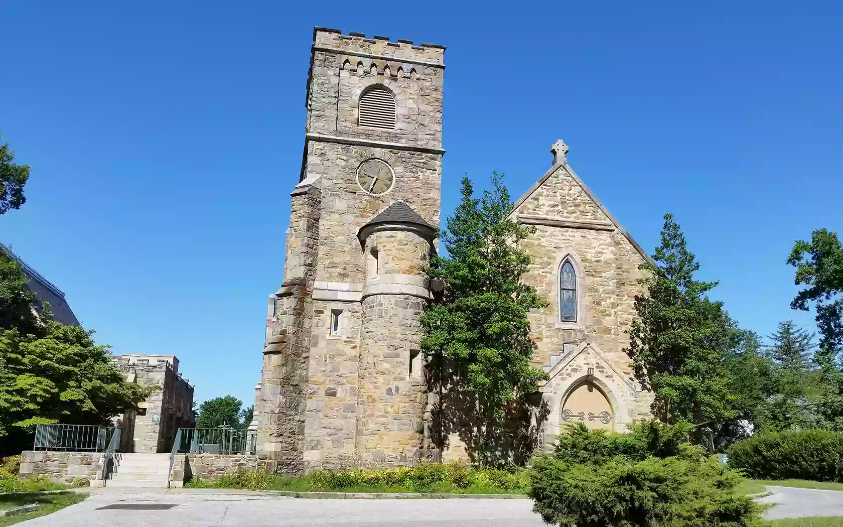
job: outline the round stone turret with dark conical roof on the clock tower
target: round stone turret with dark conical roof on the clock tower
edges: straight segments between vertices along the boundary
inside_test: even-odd
[[[356,452],[363,466],[421,460],[427,406],[419,318],[435,230],[403,202],[360,229],[366,265]]]

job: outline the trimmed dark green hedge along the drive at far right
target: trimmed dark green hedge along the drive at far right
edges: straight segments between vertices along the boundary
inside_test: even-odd
[[[843,433],[796,430],[765,433],[727,450],[729,465],[767,480],[843,481]]]

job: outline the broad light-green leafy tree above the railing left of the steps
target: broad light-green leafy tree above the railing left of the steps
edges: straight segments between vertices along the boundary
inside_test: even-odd
[[[51,320],[40,335],[0,333],[0,435],[39,423],[107,425],[151,393],[126,382],[92,333]]]

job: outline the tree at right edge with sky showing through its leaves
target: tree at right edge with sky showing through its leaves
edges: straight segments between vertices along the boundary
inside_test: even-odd
[[[808,311],[813,304],[819,328],[819,347],[813,360],[819,365],[820,394],[814,411],[822,426],[843,431],[843,248],[837,234],[826,229],[811,233],[811,241],[793,245],[787,263],[796,267],[794,283],[804,286],[791,302],[792,309]]]

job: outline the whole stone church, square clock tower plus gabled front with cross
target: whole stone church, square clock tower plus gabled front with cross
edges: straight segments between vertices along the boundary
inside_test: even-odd
[[[437,250],[444,51],[314,29],[284,280],[269,298],[255,387],[257,452],[279,471],[466,454],[459,433],[432,421],[419,346],[423,269]],[[526,279],[550,302],[531,315],[534,363],[550,374],[550,416],[532,423],[545,439],[562,422],[623,430],[649,406],[622,352],[647,255],[574,174],[565,144],[552,152],[513,212],[536,226]]]

